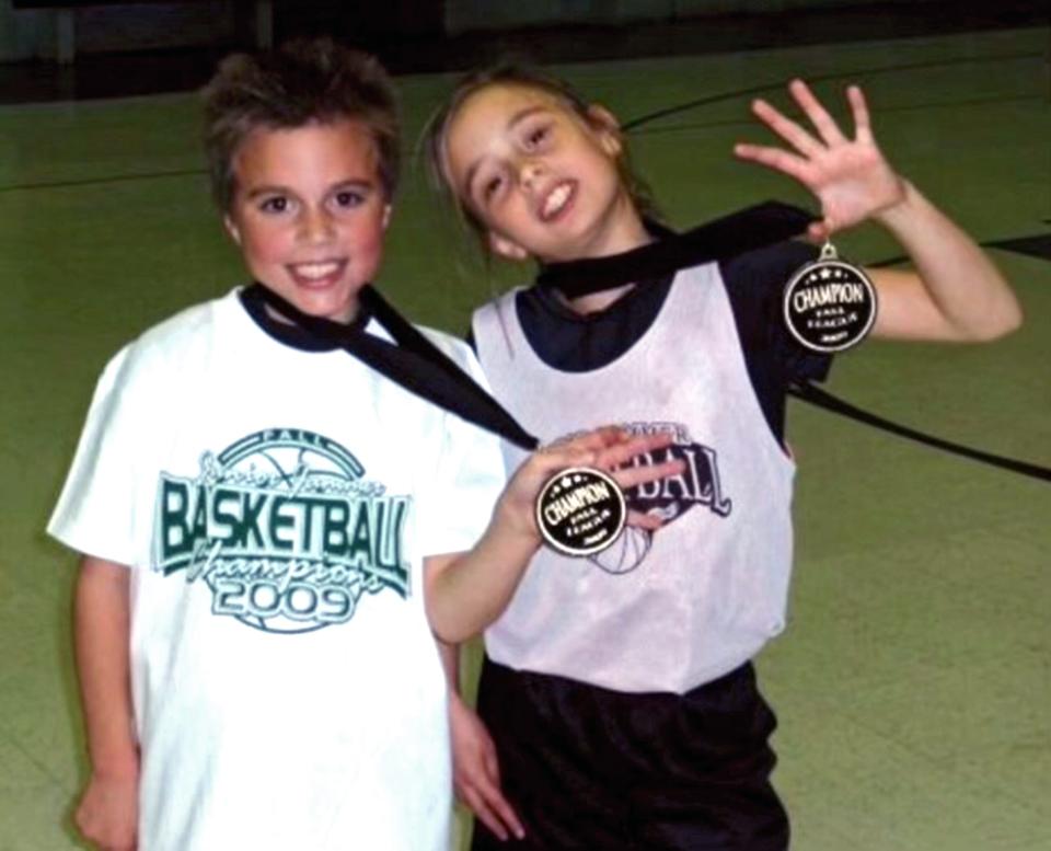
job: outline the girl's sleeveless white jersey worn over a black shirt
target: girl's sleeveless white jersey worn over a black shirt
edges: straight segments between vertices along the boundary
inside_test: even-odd
[[[488,655],[628,692],[682,693],[743,664],[785,624],[795,467],[750,383],[718,267],[679,272],[649,329],[582,371],[538,357],[516,298],[474,319],[511,414],[544,441],[605,424],[667,432],[686,471],[630,494],[665,518],[656,534],[630,528],[588,559],[541,551],[486,632]],[[504,449],[513,471],[522,452]]]

